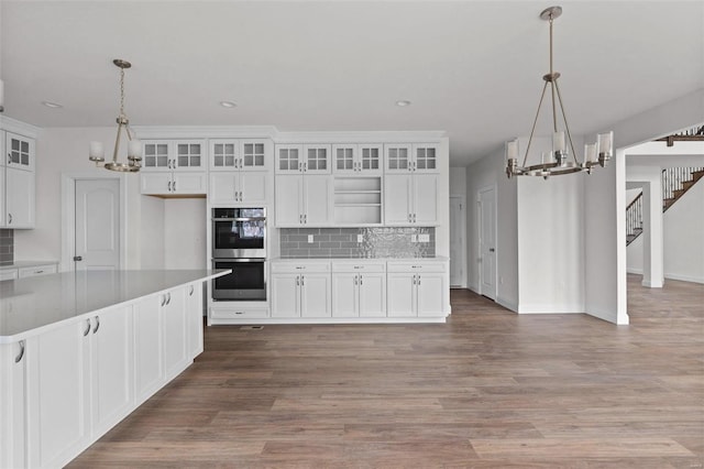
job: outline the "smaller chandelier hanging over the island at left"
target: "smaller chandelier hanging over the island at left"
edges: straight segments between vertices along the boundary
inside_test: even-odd
[[[114,140],[114,151],[112,152],[112,161],[105,163],[103,167],[110,171],[119,171],[123,173],[135,173],[140,171],[142,162],[142,143],[133,138],[130,130],[130,120],[124,113],[124,69],[130,68],[132,64],[120,58],[116,58],[112,63],[120,68],[120,114],[118,116],[118,135]],[[120,135],[122,128],[128,138],[128,162],[120,163],[118,161],[118,151],[120,150]],[[106,161],[102,142],[90,142],[88,160],[100,166]]]

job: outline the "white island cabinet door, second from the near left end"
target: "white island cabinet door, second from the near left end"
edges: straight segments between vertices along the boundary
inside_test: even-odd
[[[28,339],[28,466],[63,467],[90,439],[90,320]]]

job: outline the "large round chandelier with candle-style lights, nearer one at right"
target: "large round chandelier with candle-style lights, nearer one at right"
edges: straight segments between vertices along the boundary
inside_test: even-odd
[[[600,133],[595,143],[584,145],[582,160],[578,159],[576,152],[574,151],[572,133],[570,132],[568,119],[564,114],[562,95],[560,94],[560,86],[558,85],[560,73],[552,69],[552,22],[561,14],[562,7],[550,7],[540,13],[541,20],[550,22],[550,73],[542,76],[544,85],[542,87],[542,94],[540,95],[540,101],[538,102],[538,111],[532,122],[532,129],[530,130],[530,138],[526,146],[524,161],[520,166],[518,165],[518,140],[506,142],[506,175],[509,178],[512,176],[541,176],[547,179],[551,175],[571,174],[582,171],[591,174],[592,167],[596,165],[604,167],[606,162],[612,157],[613,132]],[[528,152],[530,151],[532,137],[540,116],[540,108],[542,107],[548,86],[550,87],[552,105],[552,151],[543,152],[539,163],[528,164]],[[558,129],[558,107],[562,116],[564,130]],[[570,152],[572,154],[571,157]]]

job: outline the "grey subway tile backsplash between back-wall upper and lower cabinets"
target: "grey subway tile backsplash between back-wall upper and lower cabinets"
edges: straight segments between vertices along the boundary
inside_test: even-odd
[[[309,236],[312,242],[308,242]],[[428,241],[424,241],[426,238]],[[284,228],[279,242],[282,258],[436,255],[435,228]]]

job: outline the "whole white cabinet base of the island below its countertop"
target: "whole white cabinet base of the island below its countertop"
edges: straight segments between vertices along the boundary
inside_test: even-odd
[[[0,345],[0,467],[63,467],[202,350],[196,282]]]

